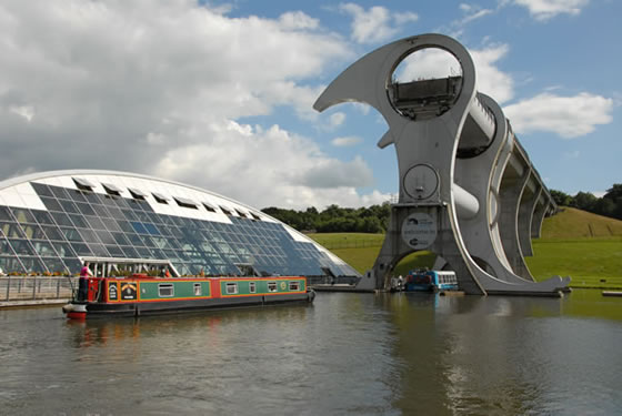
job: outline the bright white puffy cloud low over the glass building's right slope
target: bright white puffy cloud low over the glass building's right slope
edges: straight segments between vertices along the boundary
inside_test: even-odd
[[[373,183],[361,158],[328,158],[314,143],[278,125],[263,130],[231,121],[208,130],[209,141],[169,150],[153,172],[258,207],[361,206],[370,197],[355,190]]]

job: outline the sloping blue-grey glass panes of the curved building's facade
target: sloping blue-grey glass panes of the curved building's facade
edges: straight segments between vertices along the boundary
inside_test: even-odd
[[[180,275],[239,275],[240,265],[280,275],[319,276],[325,274],[322,267],[334,275],[358,275],[311,240],[294,240],[284,224],[260,221],[253,213],[229,213],[231,223],[212,222],[156,213],[134,193],[124,197],[112,191],[30,184],[47,210],[0,205],[4,273],[78,273],[81,258],[101,257],[169,261]],[[210,210],[203,205],[183,209]]]

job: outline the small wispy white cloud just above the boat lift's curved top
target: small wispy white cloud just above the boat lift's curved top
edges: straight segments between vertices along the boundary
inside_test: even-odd
[[[341,3],[339,9],[352,17],[352,39],[358,43],[377,43],[395,35],[401,27],[415,22],[419,16],[413,12],[394,12],[374,6],[368,10],[355,3]]]

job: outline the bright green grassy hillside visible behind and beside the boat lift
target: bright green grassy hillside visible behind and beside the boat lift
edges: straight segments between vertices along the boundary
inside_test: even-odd
[[[310,234],[360,273],[371,268],[384,240],[382,234]],[[574,287],[622,288],[622,221],[565,207],[544,219],[541,239],[532,240],[534,256],[526,257],[536,280],[553,275],[571,276]],[[405,274],[417,267],[431,267],[434,254],[419,252],[395,267]]]

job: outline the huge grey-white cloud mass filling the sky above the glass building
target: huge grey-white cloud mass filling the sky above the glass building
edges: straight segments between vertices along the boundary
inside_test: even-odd
[[[317,116],[313,83],[353,58],[348,44],[302,12],[228,11],[191,0],[2,2],[0,177],[133,171],[259,207],[377,197],[357,192],[372,182],[361,159],[341,162],[277,125],[238,122],[280,105]]]

